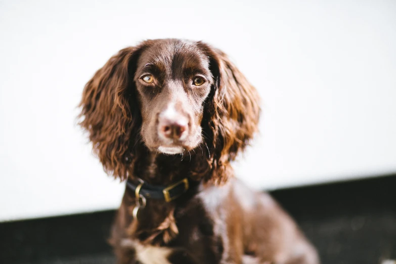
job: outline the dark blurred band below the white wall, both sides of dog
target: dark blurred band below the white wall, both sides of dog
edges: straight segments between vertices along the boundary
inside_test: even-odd
[[[395,263],[389,259],[396,259],[396,175],[272,195],[318,248],[323,264]],[[0,263],[113,263],[106,243],[113,215],[0,223]]]

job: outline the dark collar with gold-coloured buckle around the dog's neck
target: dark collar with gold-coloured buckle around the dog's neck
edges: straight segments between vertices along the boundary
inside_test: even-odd
[[[126,187],[135,192],[135,196],[138,200],[143,196],[146,199],[158,199],[170,202],[187,192],[191,185],[190,181],[191,180],[188,178],[184,178],[169,186],[158,186],[150,185],[141,179],[139,179],[139,184],[135,184],[128,179],[126,181]]]

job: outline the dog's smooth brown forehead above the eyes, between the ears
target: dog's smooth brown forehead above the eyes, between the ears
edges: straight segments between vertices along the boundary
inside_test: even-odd
[[[195,42],[164,39],[155,41],[142,52],[138,67],[147,65],[155,65],[163,71],[174,67],[209,69],[209,59]]]

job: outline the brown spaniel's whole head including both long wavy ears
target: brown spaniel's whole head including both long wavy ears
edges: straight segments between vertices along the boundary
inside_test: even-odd
[[[105,170],[121,179],[142,147],[166,155],[199,148],[205,179],[222,182],[259,118],[256,90],[223,52],[178,39],[119,51],[85,85],[80,105]]]

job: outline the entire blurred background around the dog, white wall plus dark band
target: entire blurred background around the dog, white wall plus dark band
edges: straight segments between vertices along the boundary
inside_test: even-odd
[[[236,172],[323,263],[395,263],[396,1],[0,0],[0,36],[0,263],[114,262],[124,184],[77,105],[118,50],[170,37],[222,49],[257,88]]]

